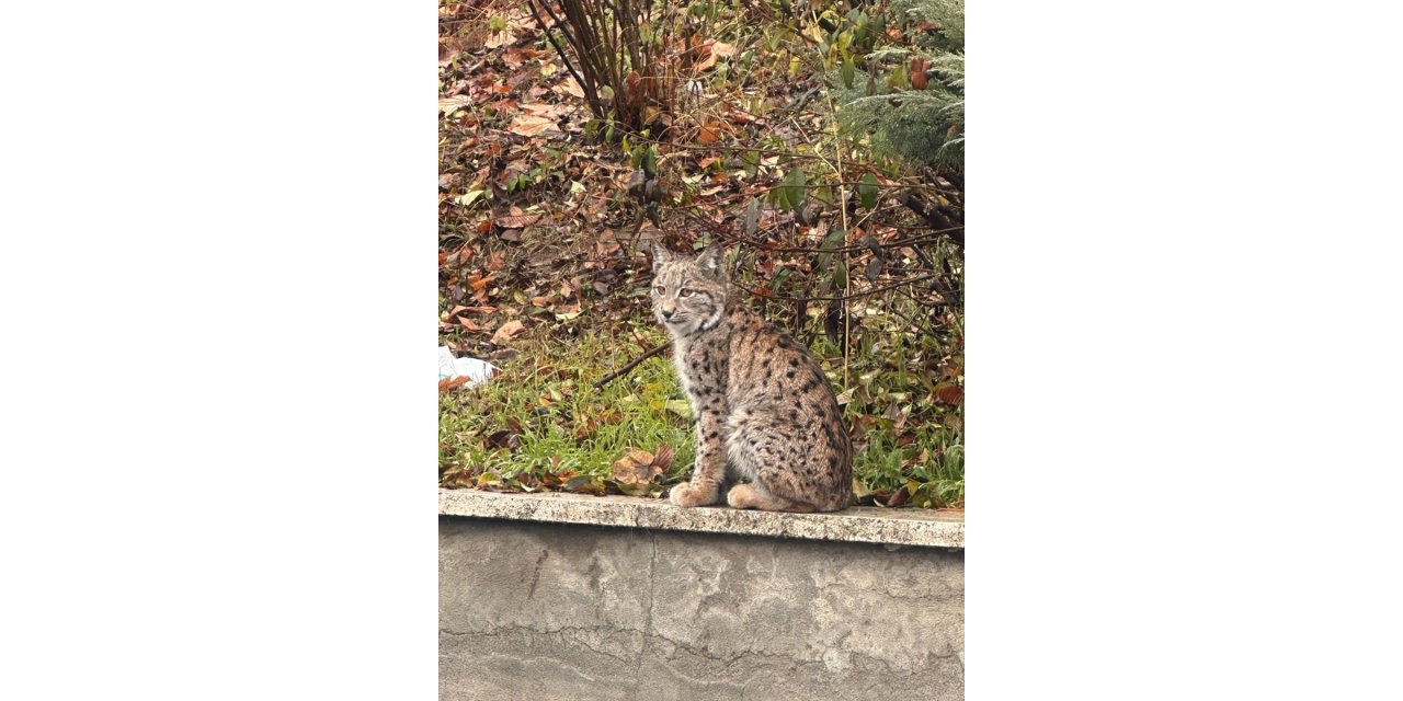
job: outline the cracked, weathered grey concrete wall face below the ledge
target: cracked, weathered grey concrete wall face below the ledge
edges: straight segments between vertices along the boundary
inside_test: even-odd
[[[439,517],[439,698],[964,697],[964,551]]]

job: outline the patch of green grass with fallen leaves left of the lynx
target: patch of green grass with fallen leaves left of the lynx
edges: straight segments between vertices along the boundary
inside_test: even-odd
[[[662,341],[661,332],[647,336]],[[630,450],[659,446],[676,457],[647,494],[658,496],[689,474],[690,408],[666,356],[596,390],[595,381],[644,349],[606,335],[518,343],[521,355],[491,381],[439,395],[443,486],[640,494],[615,482],[612,465]]]

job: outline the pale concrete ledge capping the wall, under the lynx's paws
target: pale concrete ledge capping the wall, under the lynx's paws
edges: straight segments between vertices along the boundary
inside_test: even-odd
[[[964,515],[925,509],[770,513],[727,506],[679,509],[640,496],[439,489],[439,515],[964,550]]]

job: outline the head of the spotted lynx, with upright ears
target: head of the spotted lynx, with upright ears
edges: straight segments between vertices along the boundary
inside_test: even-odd
[[[725,313],[730,276],[718,244],[702,255],[675,255],[652,244],[652,315],[672,334],[710,331]]]

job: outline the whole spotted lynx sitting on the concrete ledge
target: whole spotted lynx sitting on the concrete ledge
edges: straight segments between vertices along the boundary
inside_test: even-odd
[[[728,294],[720,245],[699,257],[652,247],[652,311],[697,418],[683,508],[835,512],[852,499],[852,443],[833,388],[808,350]]]

